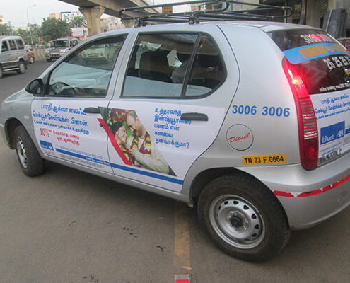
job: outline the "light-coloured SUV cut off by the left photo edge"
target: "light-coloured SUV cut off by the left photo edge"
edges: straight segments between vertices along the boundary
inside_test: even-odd
[[[23,74],[28,68],[28,56],[22,38],[16,35],[0,36],[0,78],[4,71]]]

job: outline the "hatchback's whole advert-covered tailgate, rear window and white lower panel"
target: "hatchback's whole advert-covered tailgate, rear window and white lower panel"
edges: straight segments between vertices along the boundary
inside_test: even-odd
[[[320,165],[350,150],[350,57],[327,33],[288,30],[272,39],[301,75],[317,119]]]

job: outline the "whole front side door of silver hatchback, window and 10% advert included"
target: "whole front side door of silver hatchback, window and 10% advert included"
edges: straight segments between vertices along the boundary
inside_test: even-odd
[[[126,35],[104,37],[72,52],[48,74],[45,97],[32,103],[35,137],[47,156],[110,172],[107,135],[100,108],[112,96],[108,86]],[[84,52],[97,45],[115,46],[109,62],[86,60]]]

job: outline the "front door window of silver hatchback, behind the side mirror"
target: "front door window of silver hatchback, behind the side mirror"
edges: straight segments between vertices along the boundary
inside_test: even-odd
[[[51,96],[104,97],[115,60],[125,36],[98,40],[76,50],[59,64],[49,77],[48,94]],[[113,45],[110,52],[98,50],[97,45]]]

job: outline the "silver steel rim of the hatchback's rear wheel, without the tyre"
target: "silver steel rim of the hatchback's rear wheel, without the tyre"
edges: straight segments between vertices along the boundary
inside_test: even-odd
[[[211,202],[211,226],[221,240],[240,249],[259,246],[264,239],[264,221],[259,211],[237,195],[221,195]]]

